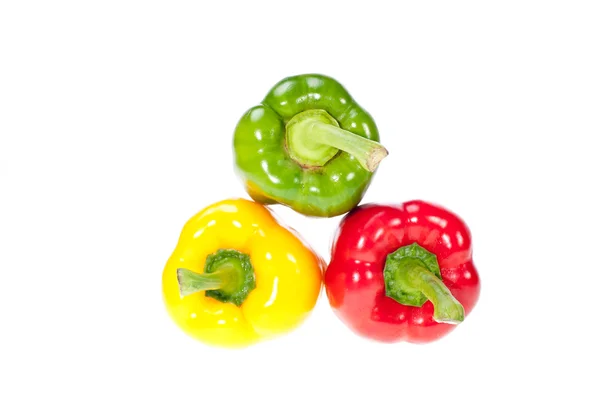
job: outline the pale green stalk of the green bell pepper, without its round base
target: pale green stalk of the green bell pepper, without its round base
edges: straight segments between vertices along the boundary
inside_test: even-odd
[[[305,128],[307,139],[349,153],[370,172],[375,171],[383,158],[388,155],[387,149],[377,141],[366,139],[331,124],[307,122]]]

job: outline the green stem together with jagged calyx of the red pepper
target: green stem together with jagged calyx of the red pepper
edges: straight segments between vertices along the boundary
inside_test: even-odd
[[[436,322],[456,324],[464,320],[463,306],[442,281],[436,255],[417,243],[387,256],[383,278],[386,296],[398,303],[421,307],[429,300]]]

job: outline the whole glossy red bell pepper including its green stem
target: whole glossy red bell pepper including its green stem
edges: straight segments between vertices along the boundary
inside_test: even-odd
[[[339,226],[325,289],[337,316],[362,337],[437,340],[479,297],[469,229],[423,201],[359,206]]]

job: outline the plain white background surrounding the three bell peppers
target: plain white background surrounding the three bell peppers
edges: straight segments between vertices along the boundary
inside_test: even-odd
[[[598,396],[597,2],[3,1],[0,396]],[[390,155],[363,203],[473,233],[479,303],[429,345],[210,349],[168,318],[183,223],[227,197],[239,117],[338,79]],[[273,210],[326,259],[339,218]]]

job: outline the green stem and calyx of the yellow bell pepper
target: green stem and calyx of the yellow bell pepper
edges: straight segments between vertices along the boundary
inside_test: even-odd
[[[219,249],[206,257],[204,273],[177,269],[181,297],[204,291],[223,303],[242,305],[256,287],[250,256],[231,249]]]

